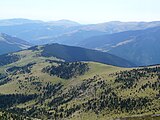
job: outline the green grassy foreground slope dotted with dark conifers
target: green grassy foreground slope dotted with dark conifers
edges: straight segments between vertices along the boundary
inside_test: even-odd
[[[160,114],[158,67],[133,70],[85,62],[89,70],[83,75],[63,79],[42,71],[59,66],[64,62],[61,59],[43,57],[41,51],[32,50],[14,55],[20,59],[0,67],[0,111],[9,115],[56,120],[123,120],[128,116],[131,118],[126,119],[132,120],[132,116],[145,116],[157,120],[147,115]]]

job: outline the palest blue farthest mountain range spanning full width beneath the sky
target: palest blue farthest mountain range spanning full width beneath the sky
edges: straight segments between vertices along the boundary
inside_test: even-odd
[[[112,21],[88,25],[79,24],[70,20],[43,22],[28,19],[7,19],[1,21],[3,22],[0,23],[0,32],[25,39],[37,45],[50,43],[78,45],[79,42],[97,35],[113,34],[129,30],[142,30],[160,26],[159,21]],[[7,25],[4,26],[4,24]]]

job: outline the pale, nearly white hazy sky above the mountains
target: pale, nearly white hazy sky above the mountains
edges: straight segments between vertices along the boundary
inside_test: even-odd
[[[0,0],[0,19],[158,21],[160,0]]]

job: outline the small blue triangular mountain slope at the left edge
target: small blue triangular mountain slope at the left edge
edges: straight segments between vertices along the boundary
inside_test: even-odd
[[[0,55],[10,52],[15,52],[22,49],[27,49],[32,45],[22,39],[9,36],[5,33],[0,33]]]

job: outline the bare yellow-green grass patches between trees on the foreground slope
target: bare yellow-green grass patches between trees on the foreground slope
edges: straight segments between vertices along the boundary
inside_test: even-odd
[[[138,85],[136,88],[131,88],[131,89],[125,89],[125,90],[119,90],[116,87],[121,84],[121,83],[115,83],[114,79],[115,77],[110,76],[111,73],[115,73],[115,72],[119,72],[119,71],[123,71],[123,70],[131,70],[133,68],[121,68],[121,67],[116,67],[116,66],[111,66],[111,65],[106,65],[106,64],[102,64],[102,63],[97,63],[97,62],[87,62],[89,65],[89,71],[86,72],[84,75],[82,76],[77,76],[76,78],[72,78],[69,80],[64,80],[61,78],[58,78],[56,76],[50,76],[47,73],[42,73],[41,70],[42,68],[50,65],[50,63],[46,62],[46,59],[52,59],[52,60],[58,60],[57,58],[44,58],[44,57],[35,57],[36,54],[39,54],[39,52],[32,52],[30,50],[27,51],[21,51],[16,53],[20,56],[22,56],[22,59],[20,61],[17,61],[15,63],[6,65],[6,66],[2,66],[0,67],[0,73],[5,73],[5,70],[9,67],[13,67],[13,66],[23,66],[26,65],[28,63],[31,62],[36,62],[36,64],[33,66],[33,68],[31,69],[31,73],[30,74],[18,74],[15,76],[9,75],[10,78],[12,78],[12,80],[10,82],[8,82],[7,84],[1,85],[0,86],[0,94],[15,94],[15,93],[23,93],[23,94],[33,94],[33,93],[41,93],[41,91],[38,91],[35,89],[35,85],[32,85],[32,82],[41,82],[42,86],[45,86],[48,82],[52,83],[52,84],[56,84],[56,83],[62,83],[64,85],[64,87],[62,88],[63,92],[65,92],[66,90],[70,89],[71,86],[76,86],[79,85],[83,82],[83,80],[89,79],[89,78],[93,78],[94,76],[98,76],[99,78],[102,78],[103,80],[106,81],[106,83],[108,85],[110,85],[111,88],[114,89],[114,92],[116,92],[118,94],[118,96],[122,96],[123,98],[128,98],[128,97],[153,97],[155,96],[158,91],[153,90],[153,89],[149,89],[147,88],[145,91],[138,91],[138,89],[145,83],[147,83],[148,81],[150,81],[151,83],[154,83],[156,81],[156,79],[141,79],[138,82]],[[24,57],[27,56],[27,57]],[[53,63],[55,64],[55,63]],[[19,76],[19,78],[17,79],[16,77]],[[34,80],[34,81],[27,81],[25,79],[25,77],[31,77],[31,76],[37,76],[39,77],[38,80]],[[21,81],[21,82],[19,82]],[[21,89],[19,88],[21,85],[23,85],[24,87],[22,87]],[[99,91],[101,92],[101,91]],[[86,97],[86,100],[90,99]],[[47,104],[49,101],[51,101],[50,98],[45,100],[45,104]],[[78,104],[78,103],[82,103],[84,101],[81,100],[73,100],[71,102],[69,102],[69,106],[72,106],[73,104]],[[160,105],[160,101],[159,100],[154,100],[153,101],[153,106],[150,106],[151,108],[158,108]],[[19,108],[26,108],[26,107],[30,107],[30,106],[34,106],[35,105],[35,101],[30,101],[27,102],[25,104],[19,104],[17,107]],[[42,105],[36,105],[37,107],[41,108]],[[45,105],[43,104],[43,107],[45,107]],[[46,109],[48,109],[46,107]],[[50,111],[51,112],[51,111]],[[95,120],[112,120],[113,118],[123,118],[126,116],[130,116],[128,113],[120,113],[120,111],[117,111],[119,113],[115,114],[115,112],[111,112],[108,111],[107,109],[102,111],[101,114],[96,115],[94,112],[75,112],[70,119],[71,120],[91,120],[91,119],[95,119]],[[157,112],[158,113],[158,112]],[[153,114],[152,111],[148,111],[145,114],[146,120],[152,120],[153,117],[151,116],[146,116],[149,114]],[[134,117],[134,118],[127,118],[127,120],[144,120],[143,117]],[[155,120],[158,120],[159,117],[155,117]]]

